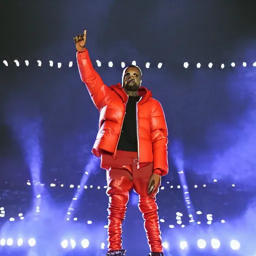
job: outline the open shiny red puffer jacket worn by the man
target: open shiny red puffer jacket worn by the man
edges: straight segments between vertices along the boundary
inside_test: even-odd
[[[125,105],[128,96],[121,84],[107,86],[94,70],[88,50],[76,53],[79,73],[90,97],[99,110],[99,129],[92,153],[101,155],[101,150],[115,156],[120,137]],[[167,127],[161,104],[152,98],[151,91],[140,87],[137,102],[138,162],[153,162],[154,173],[168,173]]]

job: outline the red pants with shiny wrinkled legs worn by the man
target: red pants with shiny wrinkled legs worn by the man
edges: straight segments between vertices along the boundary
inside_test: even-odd
[[[137,165],[137,152],[117,150],[116,158],[102,154],[101,167],[105,168],[108,203],[108,249],[122,249],[122,221],[125,218],[129,190],[139,195],[138,207],[144,219],[144,228],[151,252],[162,252],[155,194],[147,195],[147,186],[153,172],[153,164]],[[139,168],[138,168],[139,167]]]

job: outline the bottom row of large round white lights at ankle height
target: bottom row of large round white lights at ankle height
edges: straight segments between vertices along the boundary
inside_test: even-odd
[[[29,238],[25,243],[27,243],[30,247],[33,247],[36,244],[36,240],[35,240],[35,238]],[[82,239],[80,241],[80,244],[81,244],[81,247],[85,249],[89,246],[89,240],[88,239]],[[204,239],[198,239],[196,244],[197,244],[198,248],[200,248],[200,249],[204,249],[207,246],[207,242]],[[21,245],[24,245],[24,240],[22,238],[18,238],[16,240],[16,242],[14,243],[14,240],[12,238],[7,238],[7,239],[0,238],[0,246],[6,246],[6,245],[7,246],[15,246],[15,245],[21,246]],[[69,240],[64,239],[60,242],[60,245],[64,249],[65,248],[74,249],[77,244],[76,244],[76,241],[74,239],[69,239]],[[210,245],[213,249],[218,249],[218,248],[220,248],[221,243],[218,239],[212,238],[210,240]],[[163,242],[162,246],[165,249],[169,249],[169,244],[167,242]],[[240,243],[239,243],[239,241],[232,239],[229,242],[229,246],[231,247],[231,249],[237,250],[237,249],[240,248]],[[105,249],[106,248],[105,243],[102,242],[100,247],[101,247],[101,249]],[[180,241],[179,242],[179,247],[182,250],[189,248],[187,241]]]

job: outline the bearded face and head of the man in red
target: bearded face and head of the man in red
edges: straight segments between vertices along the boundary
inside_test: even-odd
[[[122,86],[126,90],[136,91],[141,84],[141,74],[137,67],[129,66],[123,71]]]

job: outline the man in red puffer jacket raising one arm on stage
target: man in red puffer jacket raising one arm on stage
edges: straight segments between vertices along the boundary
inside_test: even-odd
[[[93,69],[84,34],[73,37],[79,73],[99,110],[99,129],[92,153],[106,169],[108,205],[108,252],[122,256],[122,220],[129,190],[139,195],[138,207],[151,256],[162,256],[155,195],[160,177],[167,174],[167,127],[160,103],[141,85],[141,70],[123,70],[122,84],[106,86]]]

